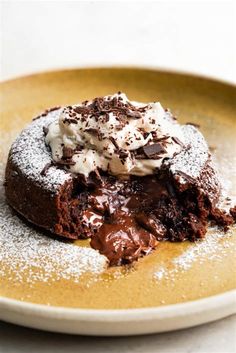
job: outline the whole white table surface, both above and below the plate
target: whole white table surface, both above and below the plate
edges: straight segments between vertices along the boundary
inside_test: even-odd
[[[234,1],[2,1],[0,79],[139,65],[236,82]],[[151,336],[89,338],[0,322],[0,353],[236,352],[236,317]]]

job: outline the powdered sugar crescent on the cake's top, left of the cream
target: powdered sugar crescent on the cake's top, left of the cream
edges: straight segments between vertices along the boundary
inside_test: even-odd
[[[60,185],[71,178],[70,173],[54,166],[48,169],[47,177],[42,175],[44,167],[52,162],[51,152],[45,144],[43,127],[58,119],[60,111],[61,109],[49,112],[47,116],[33,121],[11,147],[13,163],[27,178],[33,179],[51,192],[56,192]]]

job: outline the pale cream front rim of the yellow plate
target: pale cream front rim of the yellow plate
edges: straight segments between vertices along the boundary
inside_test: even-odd
[[[17,312],[24,311],[25,313],[35,313],[44,317],[59,317],[63,315],[65,319],[80,319],[86,321],[130,321],[136,320],[139,317],[142,321],[150,320],[154,317],[169,318],[175,313],[180,316],[181,313],[186,315],[204,311],[206,309],[213,310],[214,308],[229,306],[232,304],[232,313],[236,314],[236,289],[227,292],[208,296],[205,298],[190,300],[182,303],[142,307],[128,309],[91,309],[91,308],[74,308],[64,306],[53,306],[45,304],[37,304],[28,301],[16,300],[8,297],[0,297],[0,309],[10,309]],[[183,310],[184,309],[184,310]],[[0,312],[1,318],[1,312]]]

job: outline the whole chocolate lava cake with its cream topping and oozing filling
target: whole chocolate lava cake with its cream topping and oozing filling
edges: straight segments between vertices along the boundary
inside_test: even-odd
[[[235,221],[207,143],[160,103],[118,92],[53,108],[9,152],[6,197],[25,219],[70,239],[91,238],[111,265],[149,254],[159,241],[195,241],[207,225]]]

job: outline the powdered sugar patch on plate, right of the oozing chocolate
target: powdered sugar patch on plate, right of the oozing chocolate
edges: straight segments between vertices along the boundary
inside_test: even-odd
[[[224,257],[229,255],[229,248],[232,246],[230,239],[233,232],[233,228],[226,234],[220,232],[217,228],[212,228],[205,239],[195,242],[180,256],[173,258],[170,266],[159,267],[153,275],[154,279],[157,281],[164,279],[173,281],[179,273],[188,271],[195,262],[204,264],[209,260],[223,261]],[[232,249],[232,252],[234,252],[234,249]]]

